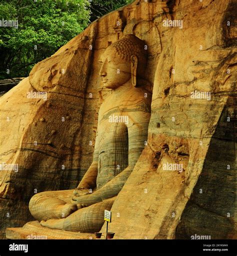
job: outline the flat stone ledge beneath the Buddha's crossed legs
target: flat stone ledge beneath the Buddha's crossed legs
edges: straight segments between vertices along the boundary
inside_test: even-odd
[[[93,233],[77,233],[50,229],[42,227],[38,221],[30,221],[23,227],[11,227],[6,229],[7,239],[45,239],[45,237],[46,239],[91,239],[90,237],[95,239]]]

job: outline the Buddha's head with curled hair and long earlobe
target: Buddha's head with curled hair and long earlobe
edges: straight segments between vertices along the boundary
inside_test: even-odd
[[[136,86],[137,79],[145,72],[146,60],[145,43],[134,35],[126,35],[111,44],[100,60],[99,75],[104,86],[116,89],[128,81]]]

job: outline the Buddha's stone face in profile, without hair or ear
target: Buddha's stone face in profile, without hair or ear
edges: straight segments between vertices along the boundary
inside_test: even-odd
[[[104,87],[116,89],[131,79],[131,61],[119,58],[114,48],[108,47],[99,62],[102,63],[99,75]]]

